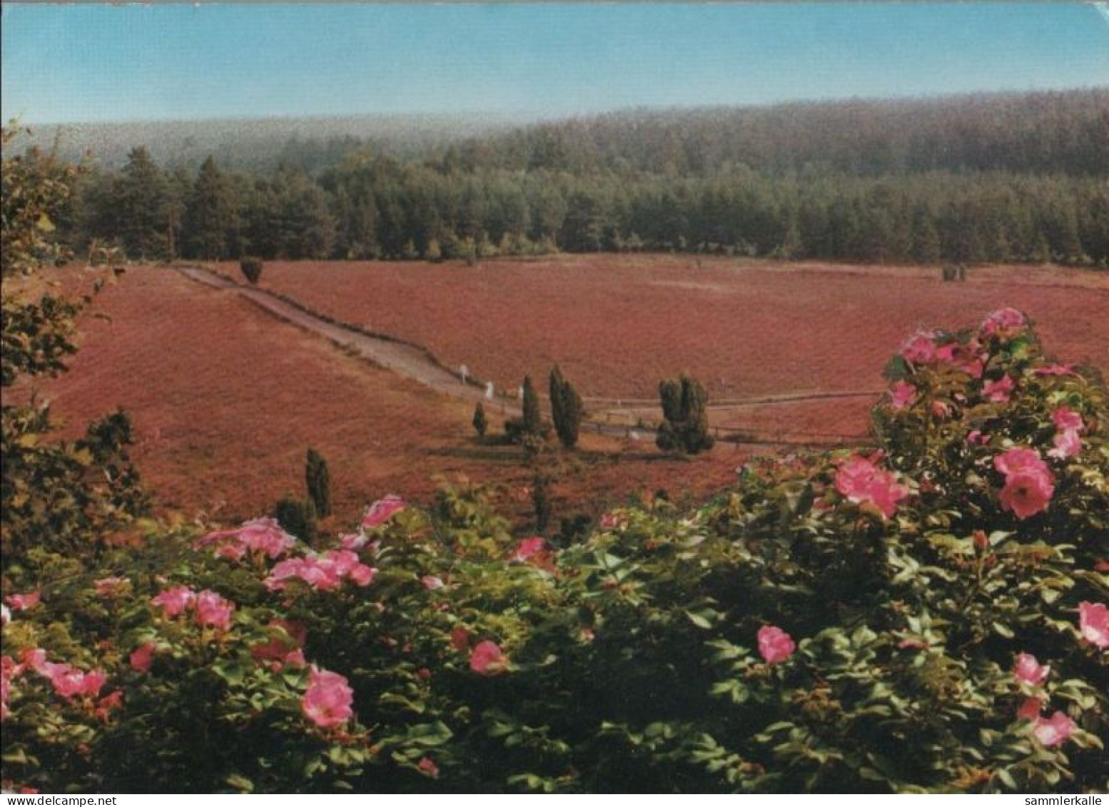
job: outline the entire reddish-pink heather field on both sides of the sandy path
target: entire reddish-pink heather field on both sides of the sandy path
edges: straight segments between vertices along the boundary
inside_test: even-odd
[[[1062,355],[1109,366],[1101,276],[995,268],[940,284],[933,275],[593,256],[477,268],[272,263],[261,286],[418,341],[501,389],[515,390],[525,372],[545,379],[558,362],[587,397],[620,399],[590,401],[593,417],[612,425],[655,422],[658,379],[685,369],[713,396],[713,426],[766,443],[864,437],[883,362],[912,327],[974,323],[1001,304],[1029,311]],[[384,493],[427,501],[439,480],[464,478],[501,486],[505,508],[521,523],[529,517],[519,450],[477,443],[471,404],[344,355],[230,293],[164,268],[132,269],[98,298],[81,331],[72,370],[43,394],[74,425],[70,433],[126,409],[133,457],[163,510],[223,520],[264,512],[299,491],[311,446],[332,466],[340,520]],[[853,395],[807,398],[830,392]],[[726,402],[737,399],[756,402]],[[491,413],[499,432],[502,416]],[[659,454],[649,433],[638,442],[587,433],[583,449],[559,461],[558,515],[596,514],[658,488],[702,494],[770,450],[722,443],[676,460]]]

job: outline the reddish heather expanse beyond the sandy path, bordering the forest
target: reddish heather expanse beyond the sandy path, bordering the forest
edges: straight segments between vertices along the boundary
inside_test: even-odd
[[[914,328],[973,325],[1000,306],[1026,311],[1060,355],[1109,366],[1109,277],[1061,267],[976,268],[945,284],[937,267],[690,256],[275,262],[261,286],[498,388],[558,362],[587,398],[653,400],[682,370],[718,400],[881,390]]]

